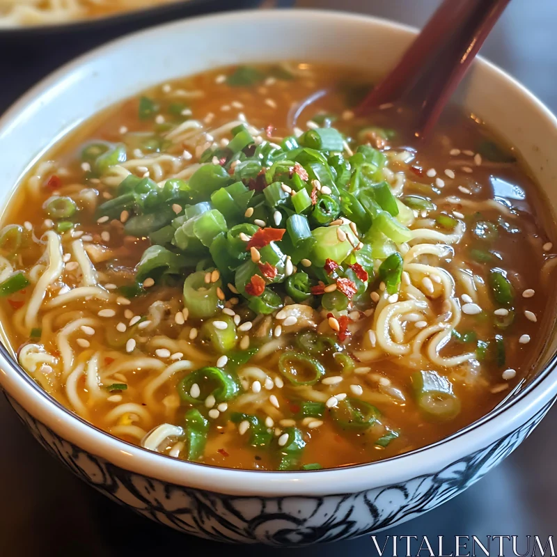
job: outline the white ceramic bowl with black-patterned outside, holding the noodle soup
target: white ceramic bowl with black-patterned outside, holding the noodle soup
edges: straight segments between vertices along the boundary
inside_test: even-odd
[[[249,40],[237,40],[245,33]],[[118,40],[59,70],[0,120],[0,203],[72,127],[143,88],[216,65],[303,58],[389,70],[414,31],[321,11],[253,11],[188,19]],[[522,153],[557,207],[557,120],[516,81],[477,61],[460,97]],[[38,440],[112,499],[215,540],[302,544],[393,526],[450,499],[508,455],[557,393],[548,338],[528,386],[433,446],[390,460],[313,472],[261,472],[180,462],[126,444],[70,414],[0,354],[0,382]]]

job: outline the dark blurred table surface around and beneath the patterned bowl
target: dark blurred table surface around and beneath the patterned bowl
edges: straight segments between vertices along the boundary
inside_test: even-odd
[[[419,26],[437,0],[299,0]],[[556,0],[513,0],[483,54],[515,75],[557,111]],[[0,112],[47,72],[104,36],[10,48],[0,42]],[[555,407],[531,437],[497,469],[457,498],[384,534],[557,535]],[[58,464],[36,444],[0,397],[0,556],[228,555],[305,557],[376,555],[369,538],[305,549],[224,547],[154,524],[120,508]],[[525,538],[524,538],[525,539]],[[450,546],[450,543],[449,543]],[[453,542],[454,549],[454,542]],[[450,551],[449,551],[450,552]],[[387,552],[389,553],[389,552]],[[386,554],[387,554],[386,553]],[[427,553],[425,553],[427,554]],[[425,555],[424,554],[424,555]],[[507,554],[507,553],[505,553]],[[508,553],[510,554],[510,552]]]

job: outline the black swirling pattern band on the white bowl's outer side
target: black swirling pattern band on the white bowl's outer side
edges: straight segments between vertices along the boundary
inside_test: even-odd
[[[437,473],[356,494],[265,498],[207,492],[124,470],[65,441],[6,396],[49,453],[113,501],[159,524],[202,538],[278,546],[354,538],[437,507],[512,453],[553,404],[552,400],[517,430]]]

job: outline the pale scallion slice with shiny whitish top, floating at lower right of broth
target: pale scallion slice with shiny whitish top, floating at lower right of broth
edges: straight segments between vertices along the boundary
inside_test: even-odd
[[[453,385],[434,371],[412,374],[412,387],[418,408],[433,420],[452,420],[460,412],[460,400],[453,393]]]

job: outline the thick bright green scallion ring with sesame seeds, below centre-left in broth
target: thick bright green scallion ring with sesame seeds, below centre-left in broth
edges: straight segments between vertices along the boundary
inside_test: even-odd
[[[191,387],[196,384],[200,395],[191,396]],[[240,393],[236,379],[226,370],[220,368],[201,368],[188,373],[177,386],[178,394],[190,405],[203,405],[209,395],[214,396],[217,404],[228,402]]]

